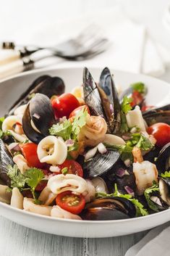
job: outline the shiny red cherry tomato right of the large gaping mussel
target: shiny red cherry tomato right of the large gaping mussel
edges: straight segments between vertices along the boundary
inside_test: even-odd
[[[72,110],[80,107],[80,103],[73,94],[61,94],[52,100],[52,107],[56,117],[69,117]]]

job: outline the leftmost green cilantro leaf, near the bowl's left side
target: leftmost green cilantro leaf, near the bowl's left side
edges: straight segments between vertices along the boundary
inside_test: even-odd
[[[11,187],[22,189],[25,186],[25,176],[22,175],[20,170],[17,168],[17,165],[13,167],[9,165],[7,175],[11,178]]]

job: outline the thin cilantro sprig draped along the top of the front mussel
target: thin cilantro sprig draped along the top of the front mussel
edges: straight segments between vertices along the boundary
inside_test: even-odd
[[[135,205],[136,210],[137,210],[137,212],[136,212],[137,216],[148,215],[148,210],[146,210],[144,208],[144,205],[141,202],[139,202],[137,199],[133,198],[132,195],[119,193],[116,183],[114,184],[114,193],[112,193],[112,194],[97,193],[96,197],[122,197],[122,198],[128,199],[130,202],[132,202],[133,205]]]

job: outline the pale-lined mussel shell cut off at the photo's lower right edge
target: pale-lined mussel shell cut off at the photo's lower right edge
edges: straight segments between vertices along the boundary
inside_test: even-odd
[[[161,199],[170,206],[170,178],[159,178]]]

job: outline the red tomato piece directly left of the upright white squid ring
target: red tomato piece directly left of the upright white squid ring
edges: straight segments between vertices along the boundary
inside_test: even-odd
[[[32,142],[20,144],[20,149],[21,149],[22,154],[24,155],[25,159],[27,160],[27,165],[29,165],[29,167],[43,169],[45,164],[43,162],[40,162],[40,160],[38,159],[36,144],[34,144]]]

